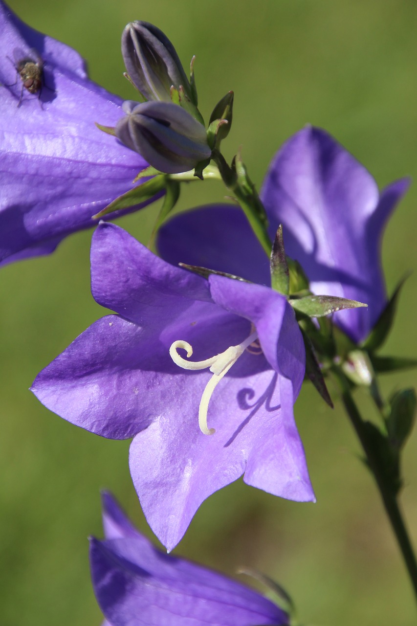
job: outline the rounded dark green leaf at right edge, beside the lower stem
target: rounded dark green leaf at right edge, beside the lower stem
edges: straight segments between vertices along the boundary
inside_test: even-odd
[[[389,443],[399,451],[403,448],[414,426],[417,405],[416,393],[414,389],[397,391],[390,399],[389,404],[391,411],[388,419],[386,419]]]

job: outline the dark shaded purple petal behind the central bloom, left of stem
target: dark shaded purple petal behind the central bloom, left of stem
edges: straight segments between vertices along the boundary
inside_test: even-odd
[[[160,228],[157,247],[173,265],[199,265],[270,284],[269,259],[237,207],[207,205],[180,213]]]

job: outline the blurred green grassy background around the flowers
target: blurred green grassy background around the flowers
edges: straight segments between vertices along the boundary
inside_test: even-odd
[[[201,109],[235,91],[228,157],[243,146],[258,187],[282,141],[323,126],[382,187],[417,179],[415,0],[11,0],[31,26],[78,49],[91,78],[133,98],[122,76],[120,34],[133,19],[157,24],[184,64],[197,55]],[[1,36],[1,35],[0,35]],[[100,120],[100,111],[98,111]],[[217,183],[188,188],[182,207],[222,198]],[[416,268],[416,198],[389,223],[388,289]],[[143,241],[152,210],[120,220]],[[3,322],[0,406],[0,623],[90,626],[101,620],[90,585],[87,536],[101,536],[100,488],[120,499],[150,535],[128,472],[128,442],[101,439],[49,413],[27,391],[102,310],[90,294],[90,232],[49,258],[0,272]],[[403,290],[385,354],[416,356],[417,277]],[[385,377],[384,393],[414,385],[415,372]],[[358,394],[371,410],[365,394]],[[317,503],[279,500],[241,481],[212,496],[175,551],[234,575],[258,568],[291,592],[302,623],[411,626],[411,588],[347,419],[306,384],[296,404]],[[417,436],[404,454],[402,504],[417,545]]]

